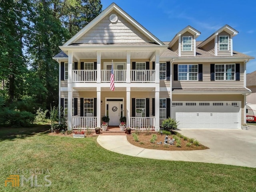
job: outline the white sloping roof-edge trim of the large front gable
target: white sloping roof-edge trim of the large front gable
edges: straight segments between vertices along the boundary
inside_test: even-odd
[[[101,12],[94,20],[92,20],[89,24],[87,24],[84,28],[82,28],[78,33],[76,33],[70,40],[64,43],[63,46],[68,46],[80,37],[82,37],[86,32],[88,32],[92,27],[94,27],[98,22],[102,20],[102,18],[106,17],[112,10],[115,10],[118,14],[120,14],[123,18],[125,18],[130,24],[132,24],[137,30],[142,32],[146,37],[148,37],[152,42],[155,42],[158,45],[164,45],[156,36],[150,33],[146,28],[144,28],[141,24],[139,24],[136,20],[134,20],[130,15],[128,15],[124,10],[122,10],[115,3],[112,3],[108,6],[103,12]]]

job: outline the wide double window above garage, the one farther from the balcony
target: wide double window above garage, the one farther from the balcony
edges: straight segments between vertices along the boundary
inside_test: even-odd
[[[235,64],[215,64],[215,80],[235,80]]]

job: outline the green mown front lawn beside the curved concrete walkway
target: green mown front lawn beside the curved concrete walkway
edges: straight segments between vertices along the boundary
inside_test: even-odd
[[[105,150],[96,137],[49,136],[48,129],[0,128],[1,192],[256,191],[255,168],[136,158]],[[5,187],[6,178],[18,170],[23,186]],[[24,180],[31,176],[32,187]]]

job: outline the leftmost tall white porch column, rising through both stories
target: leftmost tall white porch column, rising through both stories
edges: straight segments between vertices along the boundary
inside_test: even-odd
[[[72,130],[72,66],[73,66],[73,52],[68,51],[68,130]]]

